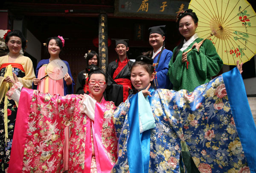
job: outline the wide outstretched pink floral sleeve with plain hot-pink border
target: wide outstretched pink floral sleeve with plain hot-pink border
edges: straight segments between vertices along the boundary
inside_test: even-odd
[[[22,89],[20,99],[9,172],[58,172],[63,167],[64,128],[73,125],[75,116],[83,116],[81,99],[27,88]]]

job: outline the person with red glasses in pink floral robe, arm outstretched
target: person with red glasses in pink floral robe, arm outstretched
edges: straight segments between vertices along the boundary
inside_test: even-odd
[[[109,173],[117,158],[117,139],[112,120],[116,107],[102,95],[107,79],[98,67],[91,69],[91,95],[84,94],[82,99],[73,94],[42,94],[16,82],[8,96],[22,102],[17,113],[19,123],[15,127],[9,171],[62,173],[64,128],[70,126],[68,172]]]

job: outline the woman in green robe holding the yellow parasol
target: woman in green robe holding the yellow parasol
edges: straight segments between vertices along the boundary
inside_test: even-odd
[[[191,9],[181,11],[177,15],[177,27],[182,39],[173,50],[167,74],[175,91],[193,91],[195,87],[209,82],[211,77],[216,76],[223,65],[212,42],[201,42],[203,39],[195,33],[197,26],[198,17]],[[186,52],[190,48],[192,51]]]

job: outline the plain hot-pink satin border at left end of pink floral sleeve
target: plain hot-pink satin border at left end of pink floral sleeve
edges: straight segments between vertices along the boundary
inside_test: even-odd
[[[27,92],[28,94],[21,94],[20,100],[29,100],[29,102],[24,101],[23,106],[19,106],[17,111],[17,123],[15,124],[12,140],[12,152],[9,162],[9,165],[12,166],[8,168],[9,173],[21,173],[23,167],[23,154],[27,135],[26,130],[28,129],[29,108],[31,105],[33,90],[23,88],[22,91]]]

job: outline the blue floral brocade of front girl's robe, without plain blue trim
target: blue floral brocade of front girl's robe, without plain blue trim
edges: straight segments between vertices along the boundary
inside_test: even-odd
[[[192,93],[157,89],[151,95],[156,127],[150,136],[149,173],[179,173],[182,141],[201,173],[250,172],[222,76]],[[127,141],[132,127],[127,113],[131,97],[114,115],[119,145],[113,173],[130,171]]]

